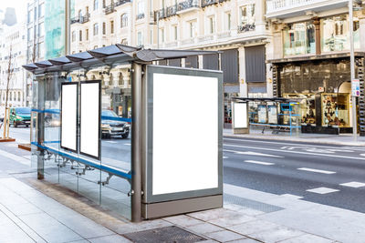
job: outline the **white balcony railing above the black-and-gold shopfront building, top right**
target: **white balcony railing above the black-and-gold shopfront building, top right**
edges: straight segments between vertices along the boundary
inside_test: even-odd
[[[314,4],[320,4],[328,2],[328,5],[333,4],[331,0],[267,0],[266,1],[266,14],[272,14],[277,11],[287,10],[300,6],[308,6]],[[349,2],[348,0],[336,1],[336,2]]]

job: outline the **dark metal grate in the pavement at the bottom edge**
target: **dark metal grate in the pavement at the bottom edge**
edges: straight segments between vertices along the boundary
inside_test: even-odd
[[[136,243],[193,243],[206,240],[183,228],[176,226],[153,228],[135,233],[124,234],[123,237],[129,238]]]

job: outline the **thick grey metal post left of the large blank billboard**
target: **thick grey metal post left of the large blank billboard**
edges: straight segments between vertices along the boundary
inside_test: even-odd
[[[131,221],[141,222],[142,166],[142,66],[131,65],[132,124],[131,124]]]

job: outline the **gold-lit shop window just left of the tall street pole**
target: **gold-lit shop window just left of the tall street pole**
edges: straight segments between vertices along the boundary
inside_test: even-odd
[[[322,126],[349,127],[349,94],[322,94]]]

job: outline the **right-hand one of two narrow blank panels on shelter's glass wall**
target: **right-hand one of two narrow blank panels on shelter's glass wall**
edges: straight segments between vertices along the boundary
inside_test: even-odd
[[[80,153],[99,158],[100,128],[99,82],[81,83]]]

